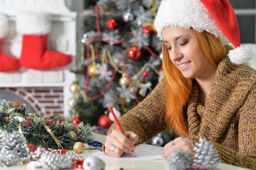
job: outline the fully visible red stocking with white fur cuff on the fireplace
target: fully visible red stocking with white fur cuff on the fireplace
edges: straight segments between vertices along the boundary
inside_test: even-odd
[[[47,48],[47,34],[51,28],[47,13],[21,13],[17,16],[17,32],[22,34],[21,66],[49,70],[65,66],[71,56]]]

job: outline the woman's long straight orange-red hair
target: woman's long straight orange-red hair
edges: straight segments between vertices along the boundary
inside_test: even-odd
[[[194,29],[193,33],[199,48],[205,57],[212,64],[218,64],[225,55],[226,49],[223,48],[220,38],[203,31],[199,33]],[[171,62],[168,50],[162,43],[162,62],[164,69],[164,79],[166,79],[166,122],[170,130],[188,135],[188,125],[184,119],[183,108],[186,106],[192,91],[193,79],[185,78],[182,73]]]

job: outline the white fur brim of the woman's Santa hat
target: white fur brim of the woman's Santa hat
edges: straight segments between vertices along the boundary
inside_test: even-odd
[[[207,31],[223,38],[222,31],[200,0],[162,0],[155,17],[157,37],[162,40],[162,30],[167,26],[184,29],[193,27],[198,32]]]

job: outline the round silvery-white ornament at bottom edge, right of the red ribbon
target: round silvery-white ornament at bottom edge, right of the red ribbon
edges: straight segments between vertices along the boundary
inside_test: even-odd
[[[105,168],[105,162],[98,157],[88,157],[83,161],[84,170],[102,170]]]

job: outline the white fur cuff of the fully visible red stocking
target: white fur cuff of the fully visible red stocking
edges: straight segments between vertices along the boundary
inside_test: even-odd
[[[49,13],[23,12],[17,15],[16,29],[21,34],[45,35],[51,29]]]

